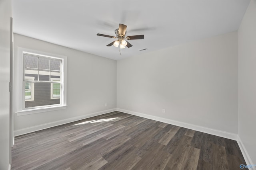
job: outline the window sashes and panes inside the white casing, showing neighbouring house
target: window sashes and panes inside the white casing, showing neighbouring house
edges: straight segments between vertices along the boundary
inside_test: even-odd
[[[61,105],[62,59],[23,52],[23,62],[23,109]]]

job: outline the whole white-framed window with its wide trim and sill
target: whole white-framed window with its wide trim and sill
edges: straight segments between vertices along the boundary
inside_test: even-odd
[[[18,47],[17,115],[66,108],[66,57]]]

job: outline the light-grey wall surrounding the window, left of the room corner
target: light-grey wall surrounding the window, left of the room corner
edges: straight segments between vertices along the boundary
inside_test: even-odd
[[[17,47],[67,56],[67,109],[20,116],[14,114],[15,135],[116,108],[116,61],[14,34],[14,86],[21,76],[16,72],[20,67],[17,64]],[[14,97],[18,93],[17,88],[14,89]],[[14,103],[16,105],[17,102]],[[14,111],[18,110],[14,108]]]

